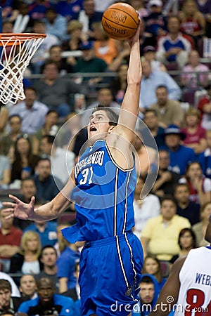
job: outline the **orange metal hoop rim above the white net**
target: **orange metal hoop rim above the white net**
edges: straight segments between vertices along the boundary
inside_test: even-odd
[[[14,44],[15,41],[27,41],[32,39],[45,39],[46,34],[41,33],[0,33],[0,46],[2,46],[1,41],[9,41],[10,44]],[[18,43],[17,43],[18,44]]]

